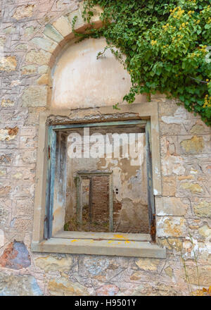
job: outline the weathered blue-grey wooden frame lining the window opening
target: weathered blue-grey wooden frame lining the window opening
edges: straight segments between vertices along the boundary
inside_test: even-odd
[[[147,194],[148,194],[148,218],[149,225],[151,228],[151,237],[152,240],[155,241],[155,203],[153,196],[153,176],[152,176],[152,156],[151,156],[151,120],[123,120],[123,121],[114,121],[114,122],[106,122],[106,123],[82,123],[82,124],[68,124],[68,125],[50,125],[49,126],[49,156],[48,156],[48,172],[47,172],[47,190],[46,190],[46,214],[45,214],[45,225],[44,225],[44,239],[48,240],[53,237],[53,203],[55,202],[54,197],[54,189],[56,182],[56,171],[60,175],[60,168],[65,163],[61,163],[60,154],[65,154],[67,151],[67,145],[64,146],[63,150],[60,147],[61,137],[68,136],[68,130],[72,130],[73,128],[101,128],[101,127],[113,127],[116,126],[126,126],[126,125],[139,125],[145,129],[146,132],[146,163],[147,163]],[[67,144],[67,139],[66,142]],[[58,155],[56,156],[56,154]],[[56,158],[58,157],[58,160]],[[64,155],[63,155],[64,157]],[[61,181],[63,185],[63,204],[65,205],[65,186],[66,186],[66,168],[63,169],[63,180]],[[85,175],[86,173],[79,173],[79,175]],[[88,173],[90,175],[91,173]],[[105,173],[98,173],[103,175]],[[108,173],[106,173],[108,175]],[[110,173],[109,173],[110,174]],[[80,178],[79,178],[80,180]],[[58,187],[60,186],[58,183],[56,184]],[[79,189],[79,185],[77,185],[77,190]],[[113,202],[111,202],[111,194],[110,188],[110,211],[113,210]],[[58,196],[58,195],[57,195]],[[77,194],[79,197],[79,194]],[[79,213],[79,204],[77,201],[77,213]],[[80,208],[81,209],[81,208]],[[81,217],[81,216],[80,216]],[[80,221],[80,218],[79,218]],[[65,224],[65,223],[64,223]],[[111,223],[110,216],[110,231],[113,231],[113,223]]]

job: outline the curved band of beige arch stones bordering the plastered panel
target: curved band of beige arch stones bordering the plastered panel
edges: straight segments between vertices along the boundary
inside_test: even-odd
[[[51,70],[56,63],[56,58],[63,51],[68,42],[72,42],[75,33],[72,30],[72,20],[77,16],[75,31],[83,33],[90,27],[82,18],[83,2],[75,11],[65,13],[57,20],[52,20],[39,30],[31,39],[32,49],[26,55],[26,63],[38,63],[44,68],[44,73],[37,81],[36,86],[28,87],[23,93],[23,106],[29,106],[28,99],[33,97],[32,106],[47,106],[51,109]],[[99,6],[93,9],[94,16],[91,18],[91,25],[98,28],[102,26],[100,15],[103,12]],[[32,96],[31,96],[32,94]]]

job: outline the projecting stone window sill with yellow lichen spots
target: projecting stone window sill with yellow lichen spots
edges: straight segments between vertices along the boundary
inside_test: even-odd
[[[96,235],[96,233],[94,235]],[[79,237],[78,233],[77,236]],[[139,234],[139,236],[141,236],[141,234]],[[166,257],[165,248],[158,247],[157,244],[153,244],[149,241],[117,240],[116,238],[115,240],[99,239],[52,237],[49,240],[44,240],[39,243],[33,242],[32,252],[151,257],[159,259],[165,259]]]

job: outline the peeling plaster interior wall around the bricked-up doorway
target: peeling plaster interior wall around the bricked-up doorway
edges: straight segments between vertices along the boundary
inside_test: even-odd
[[[105,132],[110,132],[110,129],[107,128],[106,130],[101,131],[96,129],[95,133],[101,133],[102,140],[106,144]],[[110,133],[110,135],[112,135],[112,133]],[[121,233],[149,233],[145,134],[139,133],[139,158],[136,158],[136,162],[132,159],[131,154],[132,150],[136,152],[138,151],[138,136],[136,136],[136,143],[130,142],[129,145],[129,135],[127,135],[127,139],[123,142],[124,147],[120,147],[125,152],[124,155],[128,152],[128,158],[124,158],[118,144],[113,143],[114,151],[111,154],[111,159],[106,158],[106,149],[104,149],[104,144],[101,144],[101,149],[104,150],[102,151],[101,158],[72,159],[71,146],[77,144],[71,143],[71,137],[75,136],[70,135],[68,138],[68,180],[65,216],[65,222],[68,223],[68,221],[70,221],[71,223],[68,230],[75,230],[76,228],[75,216],[77,205],[77,187],[75,184],[75,178],[77,178],[77,173],[79,171],[112,171],[113,231]],[[83,132],[80,132],[80,137],[83,137]],[[78,141],[77,147],[81,147],[79,143],[80,140]],[[106,147],[108,147],[108,143],[106,144]],[[84,148],[89,148],[89,146],[85,144],[82,151]],[[118,150],[120,151],[120,158],[116,158],[118,155]],[[101,191],[99,191],[99,195],[100,194]],[[85,201],[87,202],[87,199],[85,199]]]

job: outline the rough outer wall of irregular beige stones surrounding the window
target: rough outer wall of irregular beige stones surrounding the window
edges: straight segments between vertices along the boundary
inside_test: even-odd
[[[198,283],[207,287],[211,130],[162,97],[152,100],[160,101],[162,197],[156,197],[156,213],[167,259],[30,251],[39,112],[46,109],[46,49],[53,44],[34,37],[75,9],[71,0],[5,0],[1,7],[0,295],[177,295],[190,294]]]

